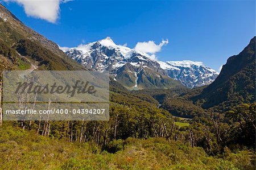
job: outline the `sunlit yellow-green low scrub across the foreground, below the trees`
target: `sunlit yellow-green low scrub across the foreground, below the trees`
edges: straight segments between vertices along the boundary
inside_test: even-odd
[[[94,143],[70,143],[4,125],[0,145],[1,169],[253,169],[250,151],[232,154],[227,148],[212,157],[162,138],[114,140],[102,150]]]

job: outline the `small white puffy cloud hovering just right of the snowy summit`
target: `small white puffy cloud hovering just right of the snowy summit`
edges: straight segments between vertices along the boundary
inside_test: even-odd
[[[168,39],[162,40],[160,44],[155,44],[154,41],[138,42],[135,45],[134,49],[137,51],[147,53],[151,57],[151,59],[156,59],[155,53],[161,51],[163,45],[166,45],[168,43]]]

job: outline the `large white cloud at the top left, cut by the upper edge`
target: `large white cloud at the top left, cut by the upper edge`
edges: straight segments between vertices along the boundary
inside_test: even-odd
[[[3,0],[5,2],[16,2],[23,6],[27,16],[47,20],[56,23],[60,13],[60,3],[71,0]]]

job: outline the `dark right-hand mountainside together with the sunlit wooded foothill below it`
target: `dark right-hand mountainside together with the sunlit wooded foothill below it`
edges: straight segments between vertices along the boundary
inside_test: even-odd
[[[255,101],[255,37],[238,55],[229,57],[216,80],[195,89],[138,90],[154,97],[170,113],[192,118],[212,111],[225,112],[240,103]]]

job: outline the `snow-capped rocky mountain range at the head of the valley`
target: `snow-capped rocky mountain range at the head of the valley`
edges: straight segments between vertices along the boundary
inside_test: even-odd
[[[129,88],[170,88],[176,82],[173,79],[193,88],[208,85],[218,76],[200,61],[154,60],[147,53],[115,44],[110,37],[60,49],[85,68],[109,71],[114,80]]]

